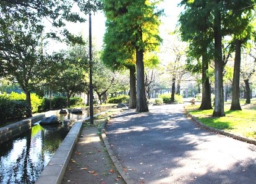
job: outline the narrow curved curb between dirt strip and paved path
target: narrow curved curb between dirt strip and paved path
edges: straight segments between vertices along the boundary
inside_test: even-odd
[[[109,144],[108,138],[106,138],[106,133],[105,133],[106,132],[106,125],[108,124],[108,120],[106,120],[106,122],[103,123],[103,126],[101,128],[101,138],[102,138],[102,140],[103,140],[103,142],[104,142],[104,144],[106,146],[106,150],[108,151],[108,154],[111,157],[111,160],[113,161],[117,171],[119,172],[121,177],[124,179],[124,181],[127,184],[137,183],[134,180],[132,180],[132,178],[130,178],[130,176],[127,175],[126,172],[124,172],[124,167],[121,165],[121,163],[119,162],[117,157],[114,155],[113,150],[111,149],[111,145]]]

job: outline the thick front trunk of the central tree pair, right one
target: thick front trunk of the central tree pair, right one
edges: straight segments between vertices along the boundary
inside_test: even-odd
[[[143,51],[136,47],[136,67],[137,67],[137,112],[148,112],[148,104],[145,90]]]

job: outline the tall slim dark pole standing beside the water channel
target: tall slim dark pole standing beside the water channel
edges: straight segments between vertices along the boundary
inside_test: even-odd
[[[93,85],[92,85],[92,14],[89,14],[89,57],[90,57],[90,86],[89,86],[89,96],[90,96],[90,124],[93,124]]]

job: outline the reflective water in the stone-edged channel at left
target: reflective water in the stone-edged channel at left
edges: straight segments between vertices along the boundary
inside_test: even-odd
[[[94,114],[101,111],[103,110],[94,111]],[[80,115],[59,115],[62,122],[85,117],[88,117],[87,111]],[[37,124],[27,132],[0,144],[0,183],[35,183],[70,128],[63,123]]]

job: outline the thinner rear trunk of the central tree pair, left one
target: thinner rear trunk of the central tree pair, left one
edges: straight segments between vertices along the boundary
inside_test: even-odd
[[[131,66],[130,69],[130,100],[129,100],[129,108],[136,109],[137,97],[136,97],[136,67]]]

